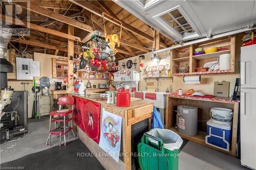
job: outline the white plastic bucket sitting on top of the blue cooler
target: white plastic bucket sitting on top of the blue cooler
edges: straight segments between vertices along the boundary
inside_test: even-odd
[[[210,116],[216,123],[232,122],[233,112],[231,109],[214,107],[210,110]]]

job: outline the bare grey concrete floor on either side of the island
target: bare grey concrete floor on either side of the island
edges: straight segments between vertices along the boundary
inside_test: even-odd
[[[29,123],[29,133],[24,137],[1,144],[1,163],[12,161],[28,154],[49,149],[58,145],[58,138],[52,137],[51,147],[45,144],[48,137],[49,121]],[[76,139],[76,138],[75,138]],[[71,138],[70,140],[74,140]],[[68,141],[70,141],[68,140]],[[204,147],[203,145],[184,141],[179,158],[180,170],[218,170],[218,169],[247,169],[240,160],[230,155]]]

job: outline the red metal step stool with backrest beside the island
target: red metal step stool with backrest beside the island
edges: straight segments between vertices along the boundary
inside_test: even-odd
[[[64,145],[66,146],[66,134],[72,131],[73,136],[75,137],[75,133],[73,131],[73,124],[70,121],[72,120],[72,112],[74,106],[74,98],[72,96],[62,96],[58,99],[59,110],[50,112],[50,127],[49,127],[49,136],[47,138],[46,144],[51,145],[51,135],[59,135],[59,147],[61,146],[61,135],[64,135]],[[71,109],[61,109],[62,105],[71,105]],[[52,116],[57,115],[57,118],[53,118]],[[60,127],[60,122],[63,122],[63,127]],[[52,129],[52,123],[55,124],[54,129]],[[56,127],[57,123],[57,127]],[[68,123],[68,126],[66,126]]]

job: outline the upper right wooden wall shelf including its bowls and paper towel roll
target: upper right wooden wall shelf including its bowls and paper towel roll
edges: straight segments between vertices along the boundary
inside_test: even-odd
[[[241,36],[232,35],[172,49],[172,76],[239,72]]]

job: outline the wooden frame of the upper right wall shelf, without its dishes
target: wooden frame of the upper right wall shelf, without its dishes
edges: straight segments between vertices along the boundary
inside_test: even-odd
[[[221,37],[215,40],[208,40],[201,43],[190,44],[187,46],[177,47],[170,50],[170,74],[172,76],[184,76],[184,75],[212,75],[212,74],[227,74],[227,73],[239,73],[240,72],[240,47],[243,44],[242,35],[232,35]],[[218,47],[226,48],[229,50],[219,51],[215,53],[208,53],[202,55],[194,55],[195,49],[198,47],[209,48]],[[189,51],[189,57],[187,55]],[[194,72],[196,68],[203,67],[208,62],[217,61],[218,57],[222,54],[230,54],[230,69],[228,71],[205,71]],[[177,66],[184,67],[189,66],[189,73],[180,74]]]

